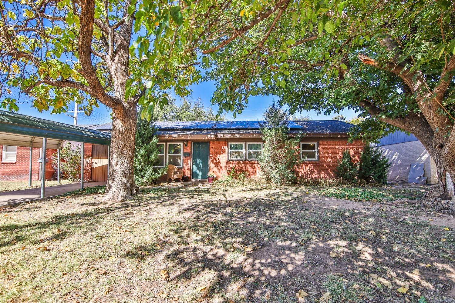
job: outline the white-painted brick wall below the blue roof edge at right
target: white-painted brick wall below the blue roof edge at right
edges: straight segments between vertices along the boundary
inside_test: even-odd
[[[435,161],[420,141],[389,144],[379,146],[378,149],[392,162],[389,180],[407,182],[411,163],[423,163],[427,183],[434,184],[438,181]]]

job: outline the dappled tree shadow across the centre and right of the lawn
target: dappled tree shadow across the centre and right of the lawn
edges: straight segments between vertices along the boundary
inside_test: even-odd
[[[185,194],[197,199],[201,192]],[[267,298],[288,302],[304,288],[331,292],[333,302],[386,302],[396,298],[394,289],[406,283],[427,298],[438,292],[438,283],[447,284],[445,291],[454,285],[455,263],[449,256],[455,252],[455,239],[447,245],[436,243],[434,238],[448,236],[427,224],[406,220],[397,224],[378,216],[346,223],[344,219],[361,212],[336,206],[313,208],[303,203],[299,192],[286,198],[280,192],[252,199],[232,196],[222,193],[213,200],[199,197],[197,203],[182,204],[182,211],[191,216],[169,223],[172,243],[151,242],[125,256],[143,259],[164,251],[165,258],[174,264],[169,271],[181,268],[170,274],[170,281],[183,285],[214,273],[207,285],[207,298],[237,295],[258,302]],[[432,271],[437,273],[411,273],[428,263],[435,264]],[[345,281],[328,279],[330,273],[343,276]],[[379,277],[372,279],[369,274]],[[381,281],[394,289],[379,288]],[[363,295],[352,291],[355,284],[361,285]],[[374,288],[378,291],[373,292]]]

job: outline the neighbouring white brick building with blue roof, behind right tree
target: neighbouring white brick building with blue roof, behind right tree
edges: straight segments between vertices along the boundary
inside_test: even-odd
[[[427,177],[427,183],[435,184],[438,181],[435,161],[414,135],[396,131],[379,139],[379,143],[373,145],[377,146],[392,164],[389,169],[390,181],[408,182],[411,163],[424,164],[424,177]]]

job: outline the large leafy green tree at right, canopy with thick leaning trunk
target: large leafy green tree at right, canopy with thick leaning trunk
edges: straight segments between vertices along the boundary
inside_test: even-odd
[[[453,1],[230,1],[201,30],[212,102],[242,113],[248,99],[274,94],[291,114],[365,118],[352,138],[404,129],[435,160],[439,183],[425,199],[454,196],[455,10]],[[428,198],[428,199],[427,199]],[[442,204],[441,204],[442,205]]]

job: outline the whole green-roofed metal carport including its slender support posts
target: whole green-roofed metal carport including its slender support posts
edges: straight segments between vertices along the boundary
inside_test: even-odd
[[[46,119],[27,116],[0,110],[0,144],[30,147],[29,186],[32,179],[32,149],[42,148],[41,152],[41,191],[40,198],[45,197],[45,155],[46,148],[57,149],[57,181],[60,182],[60,149],[65,141],[81,143],[81,189],[84,188],[84,143],[108,146],[110,155],[111,134],[86,129],[84,127],[54,122]],[[109,175],[109,160],[107,174]]]

